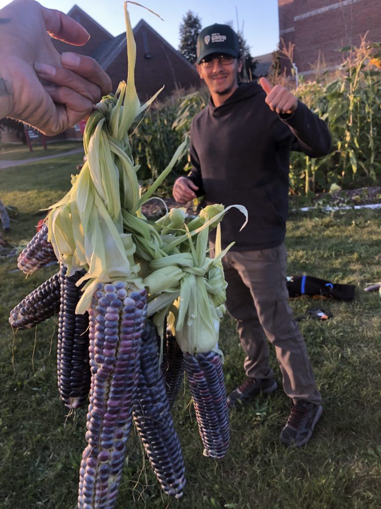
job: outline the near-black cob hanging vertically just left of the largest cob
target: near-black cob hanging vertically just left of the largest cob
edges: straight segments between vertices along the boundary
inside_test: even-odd
[[[82,286],[76,282],[84,271],[66,275],[61,265],[59,280],[61,297],[58,319],[57,380],[61,400],[68,408],[81,407],[90,389],[90,365],[88,353],[88,313],[76,315],[75,308],[82,294]]]

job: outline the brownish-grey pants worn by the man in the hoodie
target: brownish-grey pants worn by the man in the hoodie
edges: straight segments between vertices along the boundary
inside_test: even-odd
[[[257,251],[229,251],[223,258],[227,308],[237,320],[248,377],[271,378],[266,340],[274,345],[284,392],[294,403],[320,404],[304,338],[292,316],[286,286],[284,245]]]

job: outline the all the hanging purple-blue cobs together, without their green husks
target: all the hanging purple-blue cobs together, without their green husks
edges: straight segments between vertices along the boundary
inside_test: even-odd
[[[46,224],[18,258],[30,274],[56,260]],[[10,313],[15,329],[35,327],[54,314],[58,319],[57,380],[70,409],[89,399],[87,446],[83,451],[78,507],[111,509],[118,494],[126,441],[134,422],[152,469],[167,495],[179,498],[186,484],[181,446],[171,407],[184,370],[192,393],[204,455],[223,458],[229,447],[229,414],[218,353],[183,354],[165,331],[147,318],[146,290],[125,282],[99,284],[83,315],[75,313],[83,275],[60,270],[25,297]]]

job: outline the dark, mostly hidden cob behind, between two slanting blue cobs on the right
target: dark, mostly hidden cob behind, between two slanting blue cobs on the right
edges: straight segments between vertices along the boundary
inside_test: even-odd
[[[169,404],[172,407],[184,375],[184,355],[177,340],[169,330],[166,333],[166,349],[163,355],[162,371]]]

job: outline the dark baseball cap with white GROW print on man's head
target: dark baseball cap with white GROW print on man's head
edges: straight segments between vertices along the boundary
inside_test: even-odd
[[[206,26],[197,38],[197,60],[199,64],[205,56],[213,53],[228,54],[239,57],[238,36],[229,25],[214,23]]]

